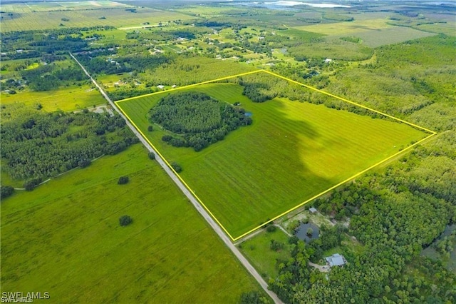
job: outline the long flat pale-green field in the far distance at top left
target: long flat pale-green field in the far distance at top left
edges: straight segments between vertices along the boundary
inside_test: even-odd
[[[14,6],[21,5],[26,4],[15,4]],[[5,11],[1,14],[1,31],[28,31],[61,27],[140,26],[145,22],[158,24],[159,22],[178,19],[195,19],[195,17],[175,11],[158,9],[136,8],[136,12],[133,13],[125,11],[125,8],[96,9],[96,6],[94,8],[65,11],[24,11],[21,13]],[[68,21],[62,19],[68,19]]]

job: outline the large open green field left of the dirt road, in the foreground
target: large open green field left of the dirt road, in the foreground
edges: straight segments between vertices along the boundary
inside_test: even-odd
[[[120,227],[125,214],[133,224]],[[139,144],[1,202],[2,292],[47,291],[49,303],[237,303],[250,290],[260,288]]]

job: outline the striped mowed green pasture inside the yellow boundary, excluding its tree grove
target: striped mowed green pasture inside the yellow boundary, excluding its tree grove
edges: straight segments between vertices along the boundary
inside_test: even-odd
[[[429,134],[405,123],[275,98],[253,103],[235,83],[185,88],[252,112],[242,127],[200,152],[147,132],[147,112],[165,92],[118,102],[224,228],[237,238]],[[303,88],[304,89],[304,88]]]

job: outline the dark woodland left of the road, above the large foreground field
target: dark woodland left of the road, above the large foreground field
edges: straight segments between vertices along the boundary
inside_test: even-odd
[[[109,113],[34,111],[1,126],[1,158],[19,180],[43,180],[103,154],[123,151],[138,138]]]

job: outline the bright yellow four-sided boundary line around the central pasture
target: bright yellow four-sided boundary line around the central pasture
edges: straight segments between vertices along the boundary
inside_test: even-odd
[[[226,228],[224,228],[224,226],[222,225],[222,223],[219,222],[219,220],[214,216],[214,214],[209,210],[209,208],[206,207],[206,205],[204,205],[204,203],[201,201],[201,199],[199,199],[199,197],[195,194],[195,192],[192,190],[192,188],[190,188],[190,186],[187,185],[187,183],[185,183],[185,181],[180,177],[180,175],[174,170],[174,168],[172,168],[172,166],[170,165],[170,163],[168,163],[168,161],[166,160],[165,157],[162,156],[162,153],[160,153],[160,151],[158,151],[157,148],[155,148],[155,146],[150,142],[149,138],[147,138],[147,136],[145,136],[144,133],[142,133],[142,131],[140,130],[140,128],[138,128],[138,126],[136,126],[136,123],[130,118],[130,116],[128,116],[127,113],[125,113],[125,111],[123,111],[123,108],[121,108],[119,106],[118,103],[121,103],[123,101],[131,101],[133,99],[136,99],[136,98],[143,98],[143,97],[147,97],[147,96],[152,96],[152,95],[157,95],[157,94],[162,94],[162,93],[169,93],[171,91],[177,91],[177,90],[182,90],[182,89],[185,89],[185,88],[192,88],[192,87],[195,87],[195,86],[201,86],[203,84],[207,84],[207,83],[213,83],[213,82],[217,82],[217,81],[222,81],[222,80],[227,80],[227,79],[230,79],[230,78],[236,78],[236,77],[239,77],[239,76],[245,76],[245,75],[250,75],[250,74],[256,74],[256,73],[266,73],[266,74],[270,74],[272,76],[276,76],[276,77],[279,77],[279,78],[282,78],[284,79],[285,81],[289,81],[291,83],[295,83],[299,86],[304,86],[305,88],[309,88],[313,91],[316,91],[318,93],[323,93],[327,96],[331,96],[333,98],[336,98],[340,101],[344,101],[346,103],[351,103],[352,105],[354,106],[359,106],[361,108],[365,108],[366,110],[368,111],[373,111],[374,113],[378,113],[382,116],[386,116],[388,118],[392,118],[393,120],[395,121],[399,121],[400,123],[405,123],[405,124],[408,124],[409,126],[413,126],[415,128],[418,128],[420,130],[423,130],[427,133],[430,133],[429,136],[426,136],[425,138],[421,139],[420,141],[416,142],[416,143],[413,143],[413,145],[411,146],[408,146],[407,148],[403,149],[402,151],[398,151],[397,153],[394,153],[392,156],[388,156],[388,158],[385,158],[383,159],[383,161],[379,161],[378,163],[375,163],[373,164],[372,166],[364,169],[363,171],[360,171],[358,173],[356,173],[355,175],[347,178],[346,180],[344,181],[341,181],[340,183],[332,186],[331,188],[328,188],[326,189],[325,191],[321,192],[321,193],[318,193],[316,196],[312,196],[311,198],[309,198],[308,200],[302,202],[302,203],[299,203],[299,205],[297,206],[294,206],[293,208],[289,209],[288,211],[285,211],[284,213],[281,213],[279,214],[279,216],[276,216],[274,218],[272,218],[271,220],[265,222],[265,223],[262,223],[261,225],[247,231],[246,233],[243,233],[242,235],[239,235],[237,238],[233,238],[232,235],[228,232],[228,230]],[[291,211],[294,211],[296,210],[297,208],[300,208],[302,206],[304,206],[306,203],[309,203],[310,201],[313,201],[314,199],[318,198],[319,196],[323,196],[324,194],[328,193],[329,191],[332,191],[334,190],[335,188],[337,188],[338,186],[341,186],[343,185],[344,183],[347,183],[348,181],[351,181],[353,180],[354,178],[357,178],[358,176],[361,176],[363,173],[366,173],[367,171],[377,167],[377,166],[380,166],[382,163],[385,163],[387,161],[389,161],[390,159],[392,158],[395,158],[396,156],[400,155],[401,153],[405,153],[405,151],[408,151],[410,150],[411,148],[419,145],[420,143],[422,143],[423,141],[426,141],[427,139],[431,138],[432,136],[435,136],[437,134],[437,132],[435,131],[432,131],[430,129],[427,129],[427,128],[423,128],[422,126],[418,126],[416,125],[415,123],[410,123],[408,121],[404,121],[403,119],[400,119],[400,118],[397,118],[397,117],[394,117],[394,116],[391,116],[387,113],[383,113],[383,112],[380,112],[380,111],[377,111],[373,108],[369,108],[367,106],[363,106],[359,103],[355,103],[353,101],[349,101],[348,99],[346,98],[342,98],[342,97],[339,97],[339,96],[336,96],[334,94],[331,94],[331,93],[328,93],[328,92],[325,92],[325,91],[321,91],[319,90],[318,88],[314,88],[312,86],[308,86],[304,83],[300,83],[298,81],[294,81],[290,78],[286,78],[284,76],[281,76],[279,74],[275,74],[271,71],[266,71],[266,70],[257,70],[257,71],[250,71],[250,72],[246,72],[246,73],[242,73],[242,74],[237,74],[237,75],[234,75],[234,76],[227,76],[227,77],[222,77],[222,78],[217,78],[217,79],[214,79],[214,80],[209,80],[209,81],[203,81],[203,82],[199,82],[199,83],[194,83],[194,84],[190,84],[188,86],[181,86],[179,88],[171,88],[169,90],[165,90],[165,91],[157,91],[157,92],[154,92],[154,93],[148,93],[148,94],[145,94],[145,95],[140,95],[140,96],[135,96],[135,97],[131,97],[131,98],[125,98],[123,100],[120,100],[120,101],[115,101],[114,102],[116,106],[118,106],[118,108],[120,109],[120,111],[122,111],[122,113],[125,115],[125,117],[128,118],[128,120],[130,121],[130,123],[133,124],[133,126],[135,126],[136,130],[138,130],[138,132],[142,135],[143,138],[145,138],[145,140],[147,141],[147,143],[150,144],[150,146],[152,146],[152,148],[154,148],[154,150],[158,153],[158,155],[162,158],[163,161],[165,161],[165,163],[167,164],[167,166],[175,173],[175,175],[177,176],[177,178],[179,178],[179,180],[182,182],[182,184],[184,184],[184,186],[188,189],[188,191],[190,191],[190,193],[192,193],[192,196],[194,196],[197,201],[201,204],[201,206],[204,207],[204,209],[207,211],[207,213],[209,213],[210,216],[212,216],[212,218],[214,219],[214,221],[217,222],[217,224],[224,230],[224,232],[229,236],[229,238],[232,239],[233,242],[235,242],[236,240],[239,240],[240,238],[244,238],[244,236],[246,235],[249,235],[250,233],[254,232],[255,230],[258,230],[259,228],[263,227],[264,225],[267,225],[268,223],[271,223],[273,221],[275,221],[277,218],[281,218],[282,216],[286,215],[287,213],[290,213]]]

